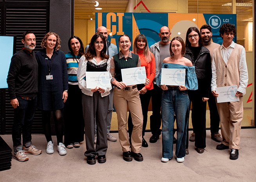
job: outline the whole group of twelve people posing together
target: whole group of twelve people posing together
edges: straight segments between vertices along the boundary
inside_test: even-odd
[[[33,32],[25,32],[24,47],[12,57],[7,76],[14,107],[14,158],[26,161],[25,154],[39,155],[42,152],[31,142],[31,124],[37,107],[42,112],[46,153],[54,153],[50,126],[53,112],[59,155],[67,153],[65,147],[79,147],[85,133],[87,163],[96,164],[96,155],[99,163],[106,162],[107,140],[117,141],[110,134],[114,103],[123,159],[142,161],[141,146],[148,147],[144,134],[151,99],[150,142],[157,142],[162,133],[162,162],[173,158],[175,143],[177,162],[184,162],[184,157],[189,154],[188,141],[195,141],[198,153],[204,152],[206,101],[210,109],[211,137],[222,142],[216,149],[230,148],[230,159],[238,159],[242,97],[248,72],[245,49],[233,42],[235,34],[234,25],[224,23],[220,27],[223,44],[218,45],[211,41],[209,25],[203,25],[200,31],[190,27],[184,43],[180,37],[169,40],[171,32],[164,26],[159,32],[161,40],[150,48],[146,36],[139,34],[133,43],[133,51],[130,51],[130,37],[121,35],[118,52],[117,47],[107,40],[106,27],[99,27],[85,50],[82,41],[72,36],[68,42],[70,52],[65,55],[59,50],[58,34],[47,33],[41,42],[43,50],[35,54],[32,51],[36,46],[35,36]],[[121,69],[134,67],[145,67],[144,84],[126,85],[123,82]],[[184,69],[185,84],[161,85],[162,68]],[[87,88],[86,72],[108,72],[112,86]],[[218,93],[215,89],[232,85],[238,86],[236,96],[240,101],[216,103]],[[190,108],[193,133],[188,137]],[[175,120],[177,139],[174,137]],[[218,132],[219,124],[223,140]]]

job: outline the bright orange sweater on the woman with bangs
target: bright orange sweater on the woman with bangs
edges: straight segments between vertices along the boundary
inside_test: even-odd
[[[150,79],[150,83],[148,85],[146,85],[145,88],[147,88],[148,90],[151,90],[151,89],[154,88],[153,87],[153,80],[154,80],[154,77],[155,77],[155,57],[150,52],[150,54],[152,55],[153,58],[150,61],[150,63],[148,63],[145,56],[143,55],[144,49],[142,49],[142,50],[138,49],[137,51],[138,51],[137,54],[141,58],[141,67],[145,67],[147,78]]]

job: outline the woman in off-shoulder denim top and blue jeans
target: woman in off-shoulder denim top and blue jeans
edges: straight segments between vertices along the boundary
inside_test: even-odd
[[[162,63],[162,69],[159,72],[156,83],[163,89],[162,94],[162,162],[168,162],[173,157],[173,125],[174,114],[177,123],[177,142],[176,142],[176,160],[184,162],[186,155],[186,128],[189,117],[189,97],[187,90],[196,90],[197,77],[195,67],[191,61],[184,58],[185,45],[180,37],[175,37],[170,43],[171,57],[165,58]],[[163,68],[172,68],[176,71],[185,71],[184,85],[165,85],[166,77],[163,74]],[[166,70],[168,71],[168,70]],[[170,70],[169,70],[170,72]]]

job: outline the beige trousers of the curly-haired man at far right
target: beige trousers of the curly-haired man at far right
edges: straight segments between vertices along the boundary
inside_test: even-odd
[[[231,149],[240,149],[240,131],[243,120],[243,96],[240,101],[216,103],[220,115],[222,144]]]

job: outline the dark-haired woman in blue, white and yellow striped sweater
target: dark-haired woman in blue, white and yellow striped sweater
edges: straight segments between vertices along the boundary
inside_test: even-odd
[[[69,99],[64,107],[64,144],[67,148],[80,147],[84,140],[85,122],[83,119],[82,92],[76,78],[78,63],[85,53],[83,43],[77,36],[68,42],[70,52],[65,54],[69,76]]]

